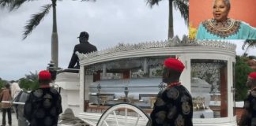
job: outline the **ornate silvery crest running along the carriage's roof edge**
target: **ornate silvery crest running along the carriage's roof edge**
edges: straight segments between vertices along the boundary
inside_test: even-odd
[[[85,58],[96,57],[104,54],[113,54],[122,51],[129,50],[143,50],[151,48],[165,48],[165,47],[174,47],[174,46],[210,46],[213,48],[223,48],[225,50],[235,50],[235,44],[228,43],[222,40],[190,40],[186,36],[183,36],[183,39],[180,40],[178,36],[175,36],[173,39],[168,39],[164,41],[156,42],[146,42],[146,43],[134,43],[134,44],[124,44],[119,43],[118,46],[107,48],[105,50],[95,51],[89,54],[80,54],[76,52],[78,58],[83,60]]]

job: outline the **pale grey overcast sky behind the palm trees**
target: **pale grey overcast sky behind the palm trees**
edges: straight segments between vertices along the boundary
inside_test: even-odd
[[[26,2],[11,13],[0,9],[0,77],[18,80],[29,72],[46,69],[51,61],[52,11],[24,41],[22,31],[33,13],[49,1]],[[141,43],[168,38],[168,1],[152,9],[145,0],[58,1],[58,64],[67,68],[81,31],[98,50],[118,43]],[[175,35],[188,34],[179,12],[174,14]],[[239,43],[240,46],[243,42]],[[239,47],[240,49],[240,47]],[[242,50],[238,50],[242,54]],[[251,54],[252,51],[250,51]],[[256,52],[254,53],[256,54]]]

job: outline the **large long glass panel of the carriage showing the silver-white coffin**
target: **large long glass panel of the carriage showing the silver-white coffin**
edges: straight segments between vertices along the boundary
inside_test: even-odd
[[[85,66],[86,111],[102,113],[119,102],[152,109],[156,95],[164,89],[161,76],[168,57],[133,57]]]

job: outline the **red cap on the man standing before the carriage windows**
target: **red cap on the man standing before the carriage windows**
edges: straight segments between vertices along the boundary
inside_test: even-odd
[[[169,69],[174,69],[178,72],[183,72],[185,66],[183,63],[175,58],[168,58],[164,61],[164,65]]]

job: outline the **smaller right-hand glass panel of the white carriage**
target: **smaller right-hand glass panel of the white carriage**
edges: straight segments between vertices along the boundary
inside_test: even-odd
[[[194,118],[228,117],[227,61],[191,60]]]

